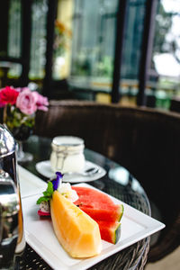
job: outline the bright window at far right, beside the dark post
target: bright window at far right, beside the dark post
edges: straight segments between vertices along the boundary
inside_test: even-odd
[[[169,109],[171,99],[180,96],[179,23],[179,0],[158,1],[151,67],[157,74],[155,105],[163,109]]]

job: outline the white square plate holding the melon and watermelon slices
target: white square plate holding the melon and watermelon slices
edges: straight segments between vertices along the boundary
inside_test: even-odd
[[[129,247],[140,239],[146,238],[165,227],[163,223],[152,219],[148,215],[111,196],[113,202],[122,203],[124,206],[119,242],[116,245],[112,245],[102,241],[103,250],[99,256],[87,259],[74,259],[69,257],[67,252],[58,243],[51,220],[41,220],[37,214],[39,206],[36,205],[36,201],[41,195],[40,190],[43,187],[42,185],[44,185],[41,182],[43,181],[25,169],[21,170],[20,179],[20,184],[23,183],[22,202],[26,241],[55,270],[83,270],[94,266],[104,258],[110,257],[112,254],[121,251],[121,249]],[[24,181],[24,179],[26,180]],[[29,195],[25,191],[25,183],[29,188],[32,184]],[[45,185],[47,186],[47,184]],[[92,187],[89,184],[78,185]]]

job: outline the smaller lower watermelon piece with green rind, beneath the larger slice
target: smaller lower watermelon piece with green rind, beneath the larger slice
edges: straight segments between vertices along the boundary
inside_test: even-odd
[[[121,223],[96,220],[99,225],[101,238],[112,244],[116,244],[121,236]]]

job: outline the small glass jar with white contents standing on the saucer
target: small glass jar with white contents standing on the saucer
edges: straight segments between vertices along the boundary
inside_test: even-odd
[[[54,172],[83,172],[85,168],[84,139],[58,136],[52,140],[50,165]]]

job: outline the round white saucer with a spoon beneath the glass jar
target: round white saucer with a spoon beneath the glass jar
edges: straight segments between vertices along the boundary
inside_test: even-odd
[[[93,162],[85,160],[85,171],[88,168],[97,168],[97,172],[92,175],[64,175],[63,176],[63,182],[70,182],[70,183],[80,183],[80,182],[91,182],[94,180],[97,180],[103,175],[106,174],[106,171],[103,169],[103,167],[98,166],[94,164]],[[40,173],[40,175],[43,175],[48,178],[56,177],[55,173],[51,170],[50,161],[40,161],[36,164],[36,170]]]

